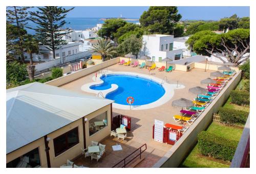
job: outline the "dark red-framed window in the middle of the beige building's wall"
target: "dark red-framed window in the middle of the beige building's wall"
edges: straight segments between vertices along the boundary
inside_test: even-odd
[[[53,139],[55,157],[79,143],[78,127]]]

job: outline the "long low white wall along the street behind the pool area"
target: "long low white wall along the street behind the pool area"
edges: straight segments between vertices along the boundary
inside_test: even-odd
[[[63,63],[68,63],[77,59],[81,59],[81,58],[85,58],[85,57],[89,57],[91,54],[89,52],[81,52],[81,53],[77,53],[74,55],[70,55],[70,56],[65,56],[62,58],[56,58],[54,60],[50,60],[44,63],[39,63],[35,65],[35,69],[36,72],[42,71],[42,70],[46,70],[49,69],[51,67],[55,67],[55,66],[59,66]]]

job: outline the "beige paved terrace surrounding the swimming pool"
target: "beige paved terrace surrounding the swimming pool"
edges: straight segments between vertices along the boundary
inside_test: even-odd
[[[138,67],[133,68],[118,64],[109,66],[104,70],[129,71],[149,74],[145,68],[139,69]],[[89,159],[80,157],[75,161],[75,164],[84,164],[85,166],[89,167],[112,167],[123,157],[129,155],[131,152],[136,150],[136,148],[146,143],[147,150],[144,153],[145,159],[136,167],[152,167],[161,157],[164,156],[169,148],[172,147],[172,145],[156,142],[152,139],[152,127],[154,120],[158,119],[164,121],[164,123],[181,125],[181,122],[175,122],[173,119],[173,115],[179,114],[181,108],[172,107],[172,102],[181,97],[193,100],[196,95],[188,92],[188,89],[195,86],[205,87],[206,85],[201,84],[200,81],[209,78],[210,72],[212,71],[207,70],[205,72],[204,69],[197,68],[191,69],[188,72],[178,70],[174,70],[173,72],[160,72],[158,70],[152,70],[150,72],[150,76],[158,77],[160,79],[163,79],[164,76],[166,76],[169,83],[177,84],[178,81],[178,83],[184,85],[185,88],[175,90],[174,96],[167,103],[156,108],[146,110],[122,110],[113,108],[113,115],[123,114],[132,117],[131,131],[127,133],[127,138],[125,139],[126,141],[120,143],[124,147],[123,151],[114,152],[111,146],[115,144],[116,141],[113,140],[113,138],[108,137],[102,140],[102,143],[106,144],[106,156],[103,157],[102,160],[100,160],[98,163],[96,163],[96,161],[91,163]],[[95,93],[88,93],[81,90],[82,85],[93,82],[92,78],[94,76],[95,72],[60,87],[95,96]]]

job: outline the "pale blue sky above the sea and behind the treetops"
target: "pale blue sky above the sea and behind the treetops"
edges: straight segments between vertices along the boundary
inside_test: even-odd
[[[66,7],[70,8],[70,7]],[[122,17],[139,18],[149,7],[75,7],[67,17]],[[35,8],[34,8],[35,9]],[[33,9],[33,10],[34,10]],[[236,13],[239,17],[250,16],[250,7],[178,7],[182,20],[219,20]]]

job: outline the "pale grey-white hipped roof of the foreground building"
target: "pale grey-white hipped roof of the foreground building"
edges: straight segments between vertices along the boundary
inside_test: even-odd
[[[7,154],[114,102],[37,82],[6,94]]]

